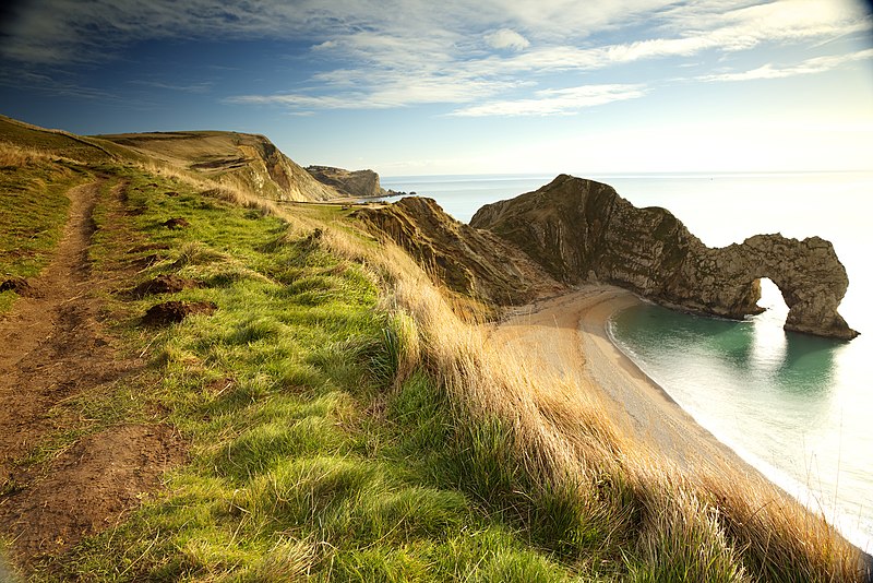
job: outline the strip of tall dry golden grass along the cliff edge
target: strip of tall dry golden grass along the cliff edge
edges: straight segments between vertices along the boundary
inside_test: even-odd
[[[363,264],[399,330],[395,385],[423,367],[439,379],[461,425],[475,432],[497,420],[507,428],[505,447],[518,465],[513,476],[526,476],[528,489],[538,490],[525,496],[570,503],[599,533],[585,546],[594,559],[577,557],[578,563],[620,548],[618,560],[636,581],[858,579],[857,549],[823,519],[763,479],[729,467],[681,471],[625,438],[598,395],[543,377],[524,355],[490,344],[485,328],[469,323],[475,317],[458,316],[458,306],[470,305],[436,287],[398,247],[370,245],[347,226],[170,165],[146,169],[282,216],[287,237],[318,233],[319,245]]]

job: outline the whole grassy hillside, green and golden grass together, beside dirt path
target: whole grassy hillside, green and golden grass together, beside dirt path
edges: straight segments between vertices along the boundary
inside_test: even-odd
[[[106,324],[145,366],[58,404],[75,426],[19,463],[134,421],[188,444],[163,488],[117,526],[36,557],[33,581],[856,579],[857,554],[766,484],[681,474],[595,401],[489,349],[350,211],[28,152],[3,165],[4,197],[34,201],[34,219],[53,209],[39,228],[55,235],[10,269],[45,264],[64,186],[103,177],[88,257]],[[25,248],[22,227],[0,225]],[[170,275],[190,285],[135,291]],[[167,300],[217,309],[145,325]]]

